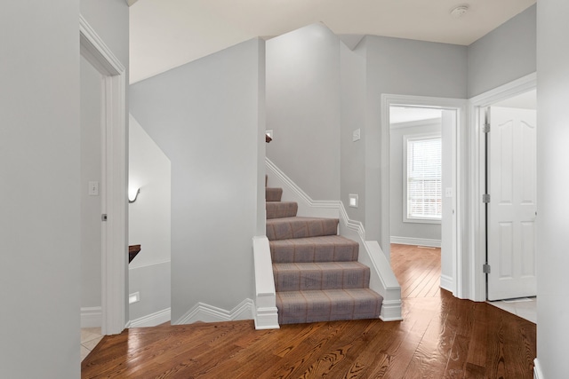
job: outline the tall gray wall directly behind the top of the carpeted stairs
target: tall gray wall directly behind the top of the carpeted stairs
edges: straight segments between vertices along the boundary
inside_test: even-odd
[[[339,200],[338,37],[315,24],[268,40],[266,91],[268,158],[313,199]]]

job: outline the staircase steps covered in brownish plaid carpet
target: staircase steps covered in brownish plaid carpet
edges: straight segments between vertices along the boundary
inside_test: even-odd
[[[379,318],[383,298],[357,262],[358,243],[337,235],[339,220],[297,217],[281,188],[265,191],[278,323]]]

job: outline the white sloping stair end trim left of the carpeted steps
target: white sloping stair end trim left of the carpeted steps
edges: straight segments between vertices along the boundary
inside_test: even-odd
[[[267,236],[253,237],[252,248],[255,267],[255,328],[276,329],[279,328],[276,289]]]

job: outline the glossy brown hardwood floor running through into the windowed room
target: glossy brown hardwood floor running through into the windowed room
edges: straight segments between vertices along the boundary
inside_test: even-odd
[[[405,283],[403,321],[132,328],[105,336],[84,359],[82,377],[533,378],[535,324],[438,289],[440,264],[429,257],[437,251],[399,247],[391,254]]]

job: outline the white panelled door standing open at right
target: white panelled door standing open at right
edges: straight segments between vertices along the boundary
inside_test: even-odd
[[[536,295],[536,114],[491,107],[488,300]]]

